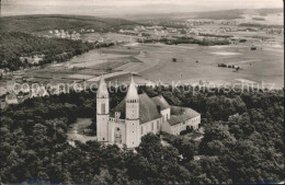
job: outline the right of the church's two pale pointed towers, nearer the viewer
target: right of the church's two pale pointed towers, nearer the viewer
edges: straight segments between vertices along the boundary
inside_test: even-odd
[[[126,95],[126,144],[128,148],[138,147],[139,134],[139,97],[132,76]]]

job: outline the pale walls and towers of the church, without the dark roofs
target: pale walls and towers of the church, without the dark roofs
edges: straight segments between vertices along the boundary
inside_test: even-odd
[[[145,95],[146,99],[147,95]],[[163,99],[160,96],[157,100]],[[151,101],[147,96],[147,101]],[[166,100],[163,99],[166,104]],[[116,143],[116,144],[126,144],[127,148],[138,147],[140,143],[140,138],[149,132],[159,134],[160,131],[166,131],[173,135],[179,135],[180,131],[189,128],[196,129],[201,122],[200,114],[198,116],[189,118],[183,123],[178,123],[175,125],[170,125],[168,122],[172,119],[171,108],[163,107],[162,109],[158,108],[157,104],[152,103],[152,108],[156,107],[157,115],[151,115],[152,112],[142,108],[140,109],[140,96],[137,93],[135,82],[132,78],[132,82],[128,88],[128,92],[124,102],[125,106],[123,112],[125,113],[124,118],[121,117],[121,112],[115,112],[114,116],[111,116],[110,105],[109,105],[109,92],[106,89],[106,83],[103,77],[100,80],[99,90],[96,94],[96,137],[98,141]],[[145,103],[145,102],[142,102]],[[149,102],[148,102],[149,103]],[[144,119],[141,122],[141,115],[147,115],[142,112],[149,112],[149,116],[152,116],[149,119]],[[146,118],[146,117],[145,117]]]

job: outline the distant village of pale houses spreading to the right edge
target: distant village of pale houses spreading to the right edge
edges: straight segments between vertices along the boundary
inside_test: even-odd
[[[187,21],[168,21],[159,25],[159,22],[147,22],[153,24],[152,26],[138,25],[133,30],[119,30],[118,33],[125,35],[133,35],[144,37],[145,39],[174,39],[176,37],[193,37],[196,39],[220,39],[231,41],[231,32],[264,32],[271,35],[284,34],[284,28],[264,28],[239,26],[237,21],[212,21],[212,20],[187,20]],[[228,35],[225,33],[229,33]],[[242,39],[242,38],[241,38]]]

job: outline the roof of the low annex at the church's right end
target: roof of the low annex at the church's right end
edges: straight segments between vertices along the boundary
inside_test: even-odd
[[[200,116],[200,114],[192,108],[171,106],[171,118],[168,119],[168,123],[173,126],[196,116]]]

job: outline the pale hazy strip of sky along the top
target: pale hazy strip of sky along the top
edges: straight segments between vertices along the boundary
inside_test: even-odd
[[[119,14],[283,8],[283,0],[2,0],[1,14]]]

